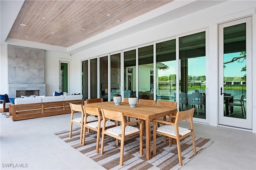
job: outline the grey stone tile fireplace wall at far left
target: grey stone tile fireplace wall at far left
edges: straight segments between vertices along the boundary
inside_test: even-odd
[[[9,97],[16,90],[40,90],[45,95],[44,50],[8,45]]]

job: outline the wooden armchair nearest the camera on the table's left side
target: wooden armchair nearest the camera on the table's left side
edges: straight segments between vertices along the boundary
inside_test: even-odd
[[[123,166],[123,157],[124,157],[124,140],[128,137],[140,134],[140,155],[143,154],[143,138],[142,138],[142,120],[125,122],[124,113],[120,111],[112,111],[108,109],[101,109],[103,117],[103,127],[102,127],[102,139],[101,139],[101,150],[100,154],[104,153],[104,136],[108,135],[116,138],[116,145],[118,145],[118,140],[121,142],[120,146],[120,166]],[[106,122],[108,120],[116,121],[116,127],[106,129]],[[118,125],[118,121],[121,122],[121,125]],[[130,126],[132,123],[139,123],[140,128]]]

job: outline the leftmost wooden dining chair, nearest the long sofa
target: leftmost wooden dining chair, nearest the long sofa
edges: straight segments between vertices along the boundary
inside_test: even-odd
[[[82,135],[83,135],[83,125],[84,125],[84,108],[80,104],[72,104],[70,103],[70,109],[71,109],[71,118],[70,118],[70,131],[69,131],[69,137],[72,137],[72,125],[73,123],[76,123],[80,125],[81,131],[80,131],[80,144],[82,144]],[[74,113],[79,112],[81,114],[81,117],[74,118]],[[97,121],[98,118],[94,116],[87,117],[87,122],[89,121]]]

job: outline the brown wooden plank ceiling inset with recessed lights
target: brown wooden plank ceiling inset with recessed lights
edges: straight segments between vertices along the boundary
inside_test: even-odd
[[[8,37],[70,47],[170,2],[172,1],[25,0]],[[21,23],[26,26],[21,26]]]

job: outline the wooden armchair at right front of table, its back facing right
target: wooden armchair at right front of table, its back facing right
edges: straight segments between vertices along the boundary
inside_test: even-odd
[[[156,154],[156,134],[164,135],[169,137],[169,146],[172,146],[172,138],[176,139],[177,141],[177,149],[178,149],[178,157],[179,157],[179,164],[182,166],[182,155],[181,155],[181,147],[180,147],[180,140],[191,135],[192,136],[192,145],[193,145],[193,153],[196,155],[196,143],[195,143],[195,136],[194,136],[194,126],[193,126],[193,115],[194,115],[195,108],[179,111],[177,112],[176,116],[170,115],[169,117],[175,118],[175,122],[169,121],[162,121],[159,119],[153,120],[153,155]],[[190,123],[190,129],[179,127],[178,122],[182,120],[188,120]],[[164,126],[156,127],[157,123],[166,124]]]

